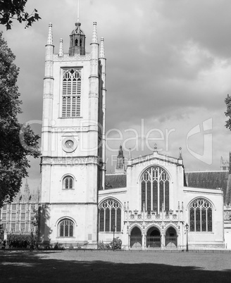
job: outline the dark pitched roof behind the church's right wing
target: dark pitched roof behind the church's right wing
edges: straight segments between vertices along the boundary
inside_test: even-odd
[[[189,187],[223,189],[224,203],[231,203],[231,175],[228,171],[185,172],[185,177]]]

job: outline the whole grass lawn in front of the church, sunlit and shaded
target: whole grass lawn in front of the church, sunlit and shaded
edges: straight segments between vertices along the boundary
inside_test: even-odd
[[[231,282],[231,253],[0,251],[0,282]]]

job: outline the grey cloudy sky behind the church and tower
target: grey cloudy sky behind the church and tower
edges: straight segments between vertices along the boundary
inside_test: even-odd
[[[37,120],[33,128],[40,134],[48,25],[55,52],[63,38],[68,53],[77,0],[28,0],[27,11],[33,8],[42,20],[32,27],[14,23],[12,30],[1,30],[20,67],[20,122]],[[131,148],[138,157],[155,143],[160,153],[175,157],[182,147],[187,171],[220,169],[220,156],[227,159],[231,150],[224,127],[224,99],[231,93],[230,13],[230,0],[80,0],[87,51],[94,21],[98,39],[105,39],[106,131],[115,139],[108,142],[107,172],[113,172],[120,144],[125,156]],[[28,183],[31,189],[39,185],[39,161],[31,161]]]

